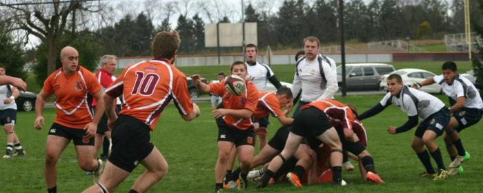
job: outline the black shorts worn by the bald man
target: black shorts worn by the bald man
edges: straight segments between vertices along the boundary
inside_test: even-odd
[[[68,128],[63,125],[53,123],[48,134],[61,136],[68,139],[68,141],[72,139],[72,141],[74,141],[74,145],[94,145],[94,137],[86,137],[86,130],[83,129]]]

